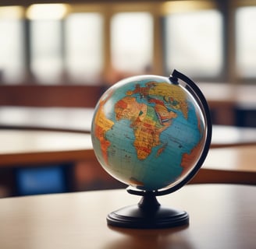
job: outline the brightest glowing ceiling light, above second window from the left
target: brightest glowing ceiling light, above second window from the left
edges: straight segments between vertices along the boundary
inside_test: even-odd
[[[62,19],[68,12],[69,5],[37,4],[27,9],[28,19]]]

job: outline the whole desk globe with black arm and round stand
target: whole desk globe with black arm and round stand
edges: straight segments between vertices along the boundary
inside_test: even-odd
[[[163,207],[156,196],[172,193],[194,177],[211,138],[204,95],[176,70],[169,77],[133,76],[107,89],[94,110],[94,153],[108,174],[130,186],[130,194],[142,196],[137,205],[108,214],[108,225],[188,224],[187,212]]]

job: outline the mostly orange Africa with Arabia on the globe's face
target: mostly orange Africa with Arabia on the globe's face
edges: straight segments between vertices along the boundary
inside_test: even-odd
[[[133,146],[137,150],[139,160],[146,159],[152,148],[160,144],[159,136],[169,125],[176,114],[167,110],[161,100],[151,99],[155,107],[148,107],[144,103],[137,103],[135,97],[126,96],[115,106],[116,120],[128,119],[131,121],[135,140]],[[162,151],[159,151],[160,153]]]

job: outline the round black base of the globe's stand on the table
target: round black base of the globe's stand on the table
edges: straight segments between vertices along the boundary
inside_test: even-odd
[[[111,212],[107,216],[108,225],[126,228],[168,228],[184,226],[189,223],[187,212],[164,208],[142,209],[140,205],[131,205]]]

